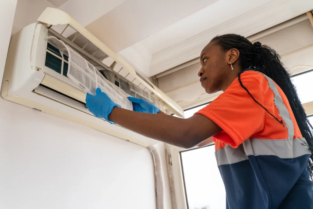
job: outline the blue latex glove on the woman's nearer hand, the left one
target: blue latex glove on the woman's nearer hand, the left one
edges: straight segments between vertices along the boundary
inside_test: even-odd
[[[100,88],[97,88],[96,95],[91,94],[86,95],[86,107],[89,111],[95,115],[97,118],[104,118],[111,124],[108,117],[112,112],[114,107],[121,107],[120,105],[114,103],[106,93],[102,92]]]

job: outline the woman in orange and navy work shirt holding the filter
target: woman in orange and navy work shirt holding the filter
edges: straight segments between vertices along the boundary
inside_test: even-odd
[[[121,109],[101,90],[87,95],[95,116],[184,148],[215,142],[227,208],[313,208],[313,137],[295,86],[268,46],[226,34],[201,52],[200,82],[223,91],[191,118],[172,117],[130,97]],[[147,114],[157,113],[157,114]]]

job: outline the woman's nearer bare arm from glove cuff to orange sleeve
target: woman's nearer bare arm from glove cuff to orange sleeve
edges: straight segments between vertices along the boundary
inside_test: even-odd
[[[183,119],[114,107],[108,119],[146,137],[183,148],[194,147],[222,130],[200,114]]]

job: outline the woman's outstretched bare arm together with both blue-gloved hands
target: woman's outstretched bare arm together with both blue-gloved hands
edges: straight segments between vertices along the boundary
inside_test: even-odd
[[[149,102],[134,100],[133,110],[122,109],[108,95],[96,89],[96,95],[86,95],[86,107],[98,118],[104,118],[110,123],[117,123],[124,128],[149,138],[179,147],[191,148],[221,131],[221,128],[209,118],[195,114],[191,118],[182,119],[170,115],[155,114],[159,108]],[[143,113],[152,112],[151,113]]]

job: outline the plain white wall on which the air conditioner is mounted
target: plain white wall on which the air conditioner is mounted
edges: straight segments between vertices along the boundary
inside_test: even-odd
[[[1,0],[0,81],[17,0]],[[0,98],[0,208],[155,208],[150,151]]]

